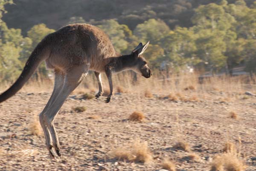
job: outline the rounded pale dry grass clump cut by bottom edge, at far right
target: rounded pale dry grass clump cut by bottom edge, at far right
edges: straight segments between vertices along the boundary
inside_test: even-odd
[[[244,171],[246,165],[235,154],[220,154],[212,162],[211,171]]]

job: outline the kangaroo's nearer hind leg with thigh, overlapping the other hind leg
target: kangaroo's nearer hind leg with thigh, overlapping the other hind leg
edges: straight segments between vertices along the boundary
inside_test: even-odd
[[[61,153],[58,136],[53,123],[54,119],[69,94],[81,83],[84,75],[87,74],[88,69],[88,66],[77,66],[72,68],[65,75],[64,84],[58,93],[58,97],[56,97],[55,101],[51,106],[49,106],[46,113],[44,114],[44,118],[47,121],[47,128],[49,129],[50,135],[52,137],[52,145],[55,148],[55,152],[58,156],[61,156]]]

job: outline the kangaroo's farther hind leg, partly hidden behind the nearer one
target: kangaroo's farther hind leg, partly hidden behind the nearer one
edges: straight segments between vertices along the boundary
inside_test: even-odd
[[[44,120],[44,113],[47,111],[47,108],[52,105],[52,103],[55,101],[56,97],[58,97],[58,92],[61,90],[64,84],[64,74],[61,73],[60,71],[55,70],[55,81],[54,81],[54,88],[52,91],[52,95],[47,102],[47,105],[44,107],[44,110],[39,114],[39,120],[41,127],[43,128],[44,131],[44,136],[45,136],[45,143],[47,146],[47,149],[49,150],[49,154],[51,157],[54,158],[54,155],[52,154],[52,139],[49,134],[49,130],[47,129],[47,122]]]

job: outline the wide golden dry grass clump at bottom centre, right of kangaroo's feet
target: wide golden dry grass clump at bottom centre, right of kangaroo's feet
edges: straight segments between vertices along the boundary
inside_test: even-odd
[[[113,157],[119,160],[129,160],[133,162],[150,162],[152,154],[148,149],[148,143],[146,141],[141,142],[140,140],[134,140],[129,145],[116,148],[113,151]]]

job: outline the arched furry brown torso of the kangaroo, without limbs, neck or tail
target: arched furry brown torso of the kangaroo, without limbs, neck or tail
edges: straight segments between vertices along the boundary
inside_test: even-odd
[[[53,68],[90,63],[90,69],[103,71],[107,58],[116,55],[108,35],[89,24],[64,26],[49,34],[47,41],[52,53],[46,62]]]

